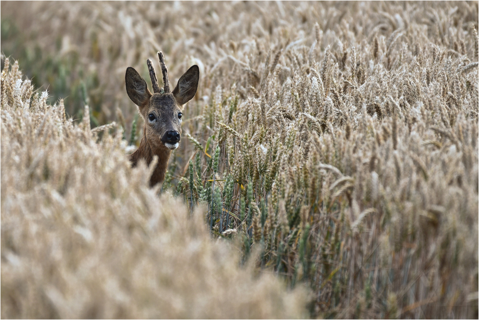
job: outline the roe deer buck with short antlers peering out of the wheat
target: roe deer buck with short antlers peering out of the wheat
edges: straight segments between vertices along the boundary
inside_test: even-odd
[[[173,92],[168,83],[168,69],[163,54],[158,52],[164,87],[160,89],[151,60],[147,60],[153,94],[148,90],[146,81],[137,70],[126,68],[126,93],[138,106],[144,120],[143,138],[138,149],[129,155],[133,167],[138,160],[145,159],[149,165],[153,156],[158,156],[158,164],[150,178],[150,186],[163,183],[170,159],[171,150],[178,148],[181,137],[182,110],[184,104],[196,94],[200,70],[192,66],[178,80]]]

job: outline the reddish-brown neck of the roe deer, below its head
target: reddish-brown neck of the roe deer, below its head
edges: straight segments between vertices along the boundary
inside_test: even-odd
[[[164,148],[153,147],[146,136],[146,128],[143,128],[143,137],[140,141],[138,149],[129,155],[129,159],[132,162],[132,166],[135,167],[140,159],[145,159],[149,166],[154,156],[158,156],[158,163],[155,170],[150,177],[150,186],[154,186],[157,183],[163,183],[165,180],[166,169],[168,168],[168,161],[170,160],[171,150]]]

